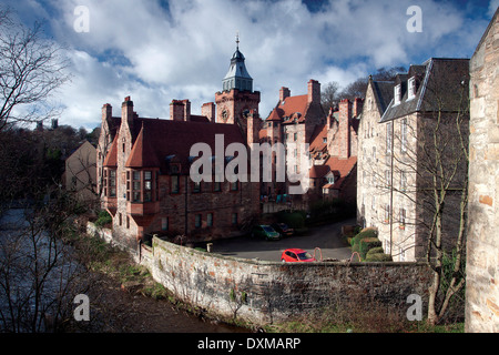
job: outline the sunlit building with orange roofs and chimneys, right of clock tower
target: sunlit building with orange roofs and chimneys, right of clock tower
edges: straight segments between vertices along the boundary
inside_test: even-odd
[[[281,88],[279,99],[263,124],[261,142],[282,143],[285,165],[289,174],[302,175],[306,193],[293,195],[293,201],[305,204],[323,199],[340,197],[355,203],[357,128],[363,101],[348,100],[338,111],[327,115],[320,104],[320,83],[309,80],[307,93],[291,95]],[[274,170],[275,170],[275,159]],[[275,176],[275,171],[274,171]],[[286,194],[293,180],[285,183],[263,183],[263,195]]]

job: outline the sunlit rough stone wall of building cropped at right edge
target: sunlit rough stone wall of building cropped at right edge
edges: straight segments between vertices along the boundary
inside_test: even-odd
[[[499,332],[499,10],[470,61],[466,331]]]

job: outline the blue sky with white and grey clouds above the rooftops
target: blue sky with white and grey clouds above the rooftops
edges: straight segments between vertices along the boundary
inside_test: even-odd
[[[499,0],[2,0],[27,27],[64,48],[71,81],[51,98],[59,124],[100,125],[101,108],[131,97],[140,116],[167,119],[170,102],[192,113],[222,90],[240,50],[266,119],[279,88],[340,88],[378,68],[432,57],[471,58]],[[416,9],[416,10],[415,10]]]

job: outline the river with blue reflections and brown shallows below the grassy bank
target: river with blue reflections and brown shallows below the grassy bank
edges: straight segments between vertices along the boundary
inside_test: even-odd
[[[32,225],[32,224],[31,224]],[[2,314],[7,314],[8,304],[21,304],[19,295],[26,294],[29,301],[26,303],[27,311],[32,308],[32,288],[30,270],[32,268],[33,258],[29,243],[30,223],[27,223],[24,217],[24,210],[12,209],[6,211],[0,216],[0,265],[6,270],[6,265],[12,266],[10,262],[12,255],[19,260],[22,256],[22,264],[17,265],[16,274],[9,274],[11,283],[16,283],[11,287],[10,293],[4,292],[4,287],[0,290],[0,310]],[[10,241],[16,241],[11,243]],[[28,241],[28,243],[24,242]],[[34,240],[34,239],[33,239]],[[53,244],[47,242],[42,233],[37,234],[37,261],[41,257],[50,258],[50,252],[47,247],[53,247]],[[16,246],[14,248],[12,247]],[[62,256],[61,256],[62,257]],[[75,263],[68,258],[61,260],[58,266],[48,273],[49,282],[44,284],[44,290],[59,288],[67,284],[67,280],[61,275],[70,275],[71,270],[74,268]],[[12,268],[12,267],[11,267]],[[69,272],[67,272],[69,271]],[[91,333],[245,333],[248,329],[235,327],[232,325],[213,322],[204,317],[198,317],[185,311],[179,310],[167,300],[153,300],[140,293],[131,293],[121,287],[118,280],[104,274],[82,274],[86,280],[81,280],[82,284],[91,284],[91,287],[85,288],[85,295],[90,300],[90,320],[89,321],[72,321],[69,332],[91,332]],[[4,275],[3,275],[4,276]],[[68,280],[70,277],[67,277]],[[3,277],[2,277],[3,280]],[[53,281],[52,281],[53,280]],[[72,288],[71,288],[72,290]],[[78,293],[81,288],[74,288],[68,294],[69,298],[73,298],[73,293]],[[77,294],[74,294],[75,296]],[[43,293],[43,301],[41,304],[49,304],[54,297],[53,292]],[[74,304],[77,307],[78,304]],[[48,307],[48,310],[50,310]],[[71,315],[71,311],[69,314]],[[28,312],[28,313],[29,313]],[[18,312],[22,316],[27,312]],[[9,324],[17,322],[16,315]],[[11,326],[6,321],[0,324],[0,329],[10,331]],[[6,325],[7,324],[7,325]],[[44,325],[39,327],[39,331],[45,331]],[[19,332],[30,332],[29,328],[18,328]]]

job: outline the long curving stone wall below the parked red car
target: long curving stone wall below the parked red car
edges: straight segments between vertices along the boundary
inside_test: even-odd
[[[410,294],[426,304],[431,282],[428,266],[417,263],[283,265],[208,254],[156,237],[152,248],[142,251],[141,263],[183,302],[255,325],[313,316],[326,306],[345,310],[353,302],[367,307],[379,302],[405,314]]]

